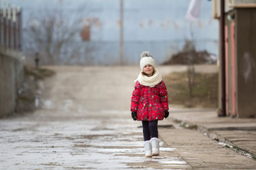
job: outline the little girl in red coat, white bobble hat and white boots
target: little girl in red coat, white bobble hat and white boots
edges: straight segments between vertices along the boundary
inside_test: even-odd
[[[145,157],[158,156],[157,123],[169,116],[166,86],[150,52],[142,52],[139,65],[142,72],[132,93],[132,118],[142,120]]]

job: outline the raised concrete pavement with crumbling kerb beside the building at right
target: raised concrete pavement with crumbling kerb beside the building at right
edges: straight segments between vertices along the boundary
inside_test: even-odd
[[[215,109],[170,108],[171,119],[182,127],[198,130],[220,145],[256,161],[256,119],[218,117]]]

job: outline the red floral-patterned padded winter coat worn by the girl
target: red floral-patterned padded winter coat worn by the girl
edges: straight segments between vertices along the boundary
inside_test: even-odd
[[[163,120],[164,111],[169,110],[164,81],[154,87],[136,82],[132,93],[131,111],[137,112],[137,120]]]

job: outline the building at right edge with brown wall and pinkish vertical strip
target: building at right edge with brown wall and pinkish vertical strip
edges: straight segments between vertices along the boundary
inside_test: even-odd
[[[220,18],[220,1],[213,1],[213,15]],[[256,0],[225,0],[225,94],[220,69],[219,108],[225,115],[256,117]],[[224,57],[224,58],[223,58]],[[222,60],[223,59],[223,60]]]

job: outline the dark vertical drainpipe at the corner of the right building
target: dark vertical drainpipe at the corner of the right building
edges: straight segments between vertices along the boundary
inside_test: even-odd
[[[220,53],[221,53],[221,105],[222,113],[226,115],[225,106],[225,0],[220,1]]]

